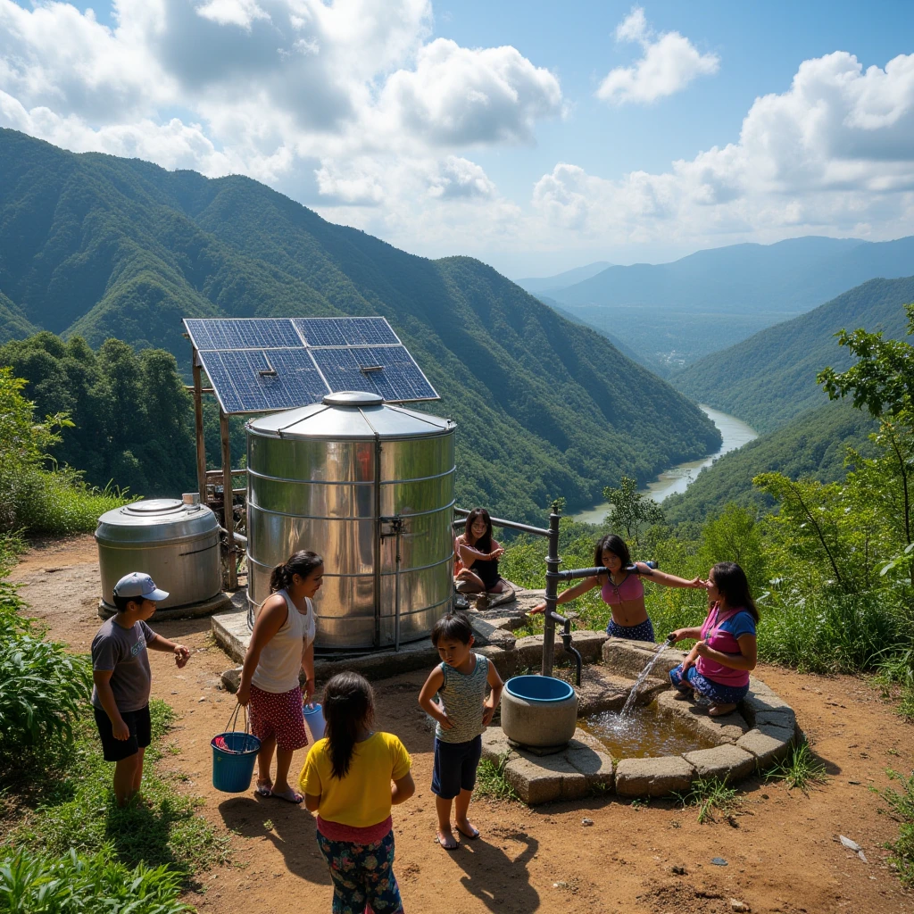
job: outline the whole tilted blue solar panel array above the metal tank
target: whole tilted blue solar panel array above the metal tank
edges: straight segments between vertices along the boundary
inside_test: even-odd
[[[187,334],[228,415],[366,390],[392,403],[438,399],[383,317],[186,318]]]

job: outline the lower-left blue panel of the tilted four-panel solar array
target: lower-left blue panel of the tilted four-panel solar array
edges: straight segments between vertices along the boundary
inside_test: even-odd
[[[329,393],[308,350],[244,349],[200,353],[222,411],[270,412],[316,403]]]

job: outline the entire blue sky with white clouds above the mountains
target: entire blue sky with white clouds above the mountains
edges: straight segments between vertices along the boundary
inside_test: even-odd
[[[911,55],[909,2],[0,0],[0,125],[518,277],[914,233]]]

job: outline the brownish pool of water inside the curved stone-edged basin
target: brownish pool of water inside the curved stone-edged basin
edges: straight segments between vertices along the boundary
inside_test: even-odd
[[[591,714],[579,719],[578,726],[599,739],[615,760],[681,755],[717,746],[677,717],[659,714],[656,702],[635,707],[627,717],[619,711]]]

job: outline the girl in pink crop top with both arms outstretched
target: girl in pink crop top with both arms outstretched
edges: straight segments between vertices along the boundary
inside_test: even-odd
[[[647,577],[664,587],[704,588],[705,582],[700,578],[685,580],[664,571],[652,569],[643,562],[632,563],[628,546],[622,537],[607,534],[597,543],[593,553],[594,567],[602,565],[606,573],[594,578],[585,578],[574,587],[569,587],[558,595],[558,603],[567,603],[577,597],[600,588],[600,596],[611,610],[610,622],[606,626],[607,634],[615,638],[627,638],[630,641],[654,641],[654,626],[644,608],[644,585],[642,577]],[[531,612],[543,612],[546,603],[540,603]]]

